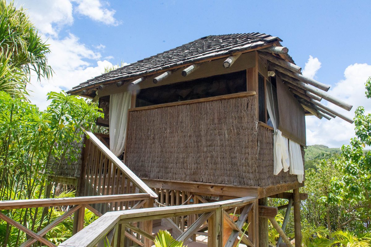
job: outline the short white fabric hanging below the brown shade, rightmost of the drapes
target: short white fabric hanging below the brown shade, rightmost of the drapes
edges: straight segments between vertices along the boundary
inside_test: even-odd
[[[299,143],[289,141],[290,153],[290,174],[295,174],[298,177],[299,183],[303,182],[304,178],[304,164],[303,156]]]

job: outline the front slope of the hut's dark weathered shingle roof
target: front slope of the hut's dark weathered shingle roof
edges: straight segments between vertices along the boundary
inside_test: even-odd
[[[278,37],[261,33],[209,35],[157,55],[99,75],[73,87],[69,93],[78,92],[92,85],[143,76],[180,65],[246,51],[263,45],[282,41]]]

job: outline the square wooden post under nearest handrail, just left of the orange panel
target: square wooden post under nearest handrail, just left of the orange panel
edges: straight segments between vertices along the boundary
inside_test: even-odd
[[[216,209],[209,218],[209,227],[207,230],[207,246],[223,247],[223,210]]]

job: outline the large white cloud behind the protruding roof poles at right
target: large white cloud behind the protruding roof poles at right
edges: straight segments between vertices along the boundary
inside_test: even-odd
[[[365,97],[365,82],[369,76],[371,76],[371,65],[357,63],[349,65],[344,71],[344,79],[331,87],[328,93],[353,105],[352,110],[348,112],[331,103],[326,105],[350,118],[354,118],[354,111],[358,106],[364,106],[365,111],[371,113],[371,101]],[[328,121],[324,118],[319,120],[315,116],[308,116],[306,129],[307,145],[323,144],[329,147],[341,147],[343,144],[348,144],[349,139],[355,136],[354,124],[349,124],[339,117]]]

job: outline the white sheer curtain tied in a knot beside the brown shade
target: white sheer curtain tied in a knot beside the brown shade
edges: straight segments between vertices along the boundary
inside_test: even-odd
[[[277,117],[276,110],[274,109],[272,85],[266,84],[266,105],[267,111],[272,121],[274,135],[273,135],[273,174],[277,175],[283,169],[284,172],[289,170],[289,150],[288,150],[288,139],[282,136],[282,132],[277,129]]]

